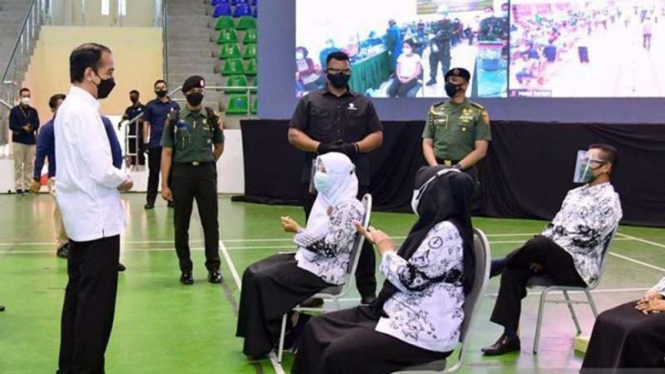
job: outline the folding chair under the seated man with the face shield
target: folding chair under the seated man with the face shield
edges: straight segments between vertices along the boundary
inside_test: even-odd
[[[540,331],[543,325],[543,314],[545,312],[545,304],[567,304],[568,310],[570,311],[570,316],[573,319],[575,328],[577,329],[577,335],[582,334],[582,328],[580,327],[580,322],[577,319],[575,314],[575,309],[573,304],[588,304],[593,312],[593,317],[598,318],[598,309],[596,309],[596,303],[593,301],[593,296],[591,296],[591,291],[598,287],[600,283],[600,277],[603,275],[603,269],[605,268],[605,260],[607,260],[607,254],[610,251],[610,245],[612,240],[614,240],[614,235],[616,235],[616,230],[612,232],[609,237],[609,240],[605,243],[605,248],[603,248],[602,258],[600,260],[600,272],[598,273],[598,278],[595,282],[591,283],[587,287],[571,287],[571,286],[559,286],[556,285],[554,280],[547,276],[536,276],[531,277],[527,281],[527,288],[543,288],[540,294],[540,305],[538,306],[538,319],[536,322],[536,335],[533,338],[533,353],[538,353],[538,345],[540,344]],[[565,300],[547,300],[547,294],[552,291],[561,291]],[[587,300],[571,300],[568,295],[568,291],[579,291],[584,292]]]

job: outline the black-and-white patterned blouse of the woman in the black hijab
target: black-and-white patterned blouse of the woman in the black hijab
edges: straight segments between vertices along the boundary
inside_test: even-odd
[[[376,330],[430,351],[454,350],[464,321],[463,253],[450,222],[432,228],[408,261],[386,252],[381,273],[399,291],[384,304],[388,317]]]

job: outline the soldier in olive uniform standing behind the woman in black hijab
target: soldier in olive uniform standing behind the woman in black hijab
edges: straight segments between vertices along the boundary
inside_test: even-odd
[[[432,105],[423,131],[423,153],[430,166],[454,167],[478,184],[475,165],[485,158],[492,140],[487,110],[466,98],[471,73],[454,68],[446,73],[450,100]],[[473,198],[473,212],[480,210],[480,190]]]

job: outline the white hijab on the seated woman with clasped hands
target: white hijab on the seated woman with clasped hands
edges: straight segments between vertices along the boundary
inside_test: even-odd
[[[307,232],[317,237],[328,233],[330,227],[328,209],[334,209],[342,201],[355,199],[358,195],[356,168],[346,155],[337,152],[327,153],[317,157],[315,165],[319,164],[323,165],[328,174],[330,188],[324,193],[319,192],[307,220]]]

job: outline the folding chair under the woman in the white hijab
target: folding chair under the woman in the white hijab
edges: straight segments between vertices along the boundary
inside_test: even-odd
[[[369,220],[372,215],[372,195],[365,194],[362,199],[363,207],[365,208],[365,216],[363,217],[363,227],[367,229],[369,227]],[[349,267],[346,270],[347,280],[344,284],[339,286],[328,287],[321,290],[321,292],[312,296],[312,298],[323,299],[332,301],[334,304],[334,310],[340,309],[339,301],[342,299],[353,286],[353,281],[356,274],[356,269],[358,268],[358,261],[360,260],[360,252],[362,251],[363,244],[365,243],[365,237],[356,234],[353,251],[351,252],[351,261],[349,262]],[[323,305],[316,308],[304,308],[301,306],[296,306],[292,309],[294,312],[325,312]],[[284,338],[286,336],[286,319],[288,318],[288,313],[282,316],[282,329],[279,334],[279,346],[277,348],[277,361],[282,362],[282,356],[284,355]]]

